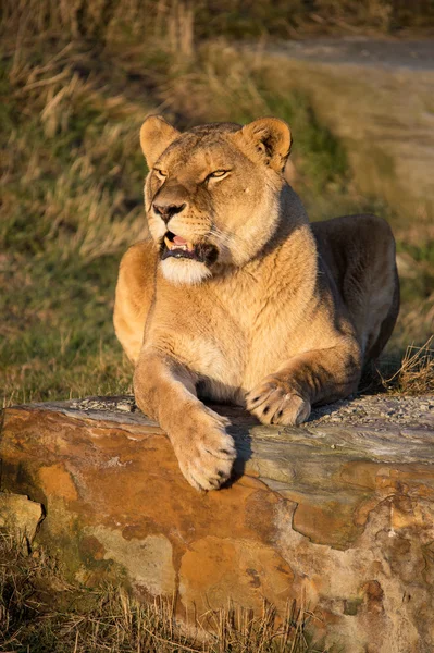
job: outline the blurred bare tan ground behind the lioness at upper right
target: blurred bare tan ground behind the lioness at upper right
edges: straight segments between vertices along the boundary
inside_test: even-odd
[[[264,56],[343,140],[360,192],[385,199],[406,237],[433,239],[434,41],[322,38]]]

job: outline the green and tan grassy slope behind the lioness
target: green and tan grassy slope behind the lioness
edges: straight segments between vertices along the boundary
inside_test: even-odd
[[[119,34],[101,49],[11,16],[0,63],[0,405],[132,390],[112,309],[121,256],[146,230],[138,131],[149,111],[181,128],[278,115],[312,220],[379,210],[394,223],[358,194],[345,148],[308,99],[258,53],[213,41],[174,57],[169,33],[129,46]],[[433,244],[411,243],[398,243],[407,271],[396,359],[432,332]]]

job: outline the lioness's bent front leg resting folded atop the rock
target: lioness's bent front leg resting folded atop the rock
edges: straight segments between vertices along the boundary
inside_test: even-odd
[[[247,393],[246,406],[264,424],[300,424],[312,405],[335,402],[354,392],[360,373],[359,346],[354,340],[343,340],[337,346],[289,359]]]

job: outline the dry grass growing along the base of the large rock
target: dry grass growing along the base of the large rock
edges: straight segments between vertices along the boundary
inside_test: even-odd
[[[270,605],[257,617],[228,607],[207,615],[207,631],[188,627],[187,637],[174,601],[145,605],[121,589],[85,590],[44,549],[28,555],[0,533],[0,652],[321,653],[308,634],[312,618],[295,603],[280,620]]]

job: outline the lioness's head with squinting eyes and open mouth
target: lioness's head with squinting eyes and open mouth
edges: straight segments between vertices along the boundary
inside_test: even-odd
[[[152,115],[140,144],[149,167],[149,230],[169,281],[201,283],[261,251],[280,221],[290,148],[284,121],[215,123],[181,133]]]

